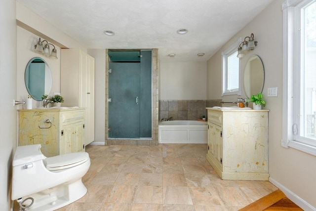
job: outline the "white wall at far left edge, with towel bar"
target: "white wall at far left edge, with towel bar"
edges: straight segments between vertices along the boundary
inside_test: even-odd
[[[11,205],[12,158],[16,148],[15,1],[0,0],[0,210]]]

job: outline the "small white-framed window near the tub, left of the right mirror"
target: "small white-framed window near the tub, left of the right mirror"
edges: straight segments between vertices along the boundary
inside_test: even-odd
[[[239,94],[239,58],[237,58],[238,42],[222,52],[223,95]]]

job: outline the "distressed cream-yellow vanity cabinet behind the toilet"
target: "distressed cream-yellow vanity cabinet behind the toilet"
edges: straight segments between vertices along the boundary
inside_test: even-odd
[[[41,144],[46,157],[84,151],[85,109],[19,110],[19,146]]]

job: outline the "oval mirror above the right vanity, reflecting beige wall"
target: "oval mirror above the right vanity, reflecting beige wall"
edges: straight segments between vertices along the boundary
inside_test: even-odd
[[[252,55],[246,64],[243,73],[243,87],[247,98],[261,93],[265,83],[265,71],[259,56]]]

